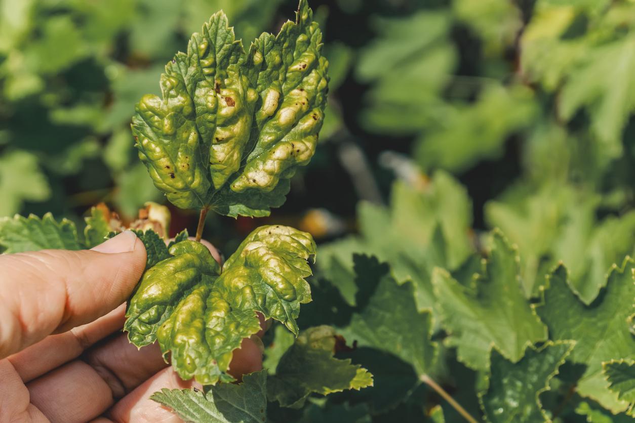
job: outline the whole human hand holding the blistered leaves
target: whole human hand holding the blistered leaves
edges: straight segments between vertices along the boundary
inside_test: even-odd
[[[0,422],[180,421],[149,396],[196,382],[119,331],[145,260],[131,231],[90,251],[0,256]],[[261,368],[261,347],[244,339],[230,373]]]

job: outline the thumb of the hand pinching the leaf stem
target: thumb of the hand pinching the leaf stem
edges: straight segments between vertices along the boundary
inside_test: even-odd
[[[0,256],[0,358],[119,306],[144,272],[145,259],[144,244],[132,231],[92,250]]]

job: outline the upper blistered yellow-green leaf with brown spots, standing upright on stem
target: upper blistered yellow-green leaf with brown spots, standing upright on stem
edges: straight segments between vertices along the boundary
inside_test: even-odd
[[[216,13],[166,65],[163,98],[137,105],[135,145],[177,207],[267,216],[315,152],[328,62],[305,0],[295,23],[262,34],[248,53],[227,25]]]

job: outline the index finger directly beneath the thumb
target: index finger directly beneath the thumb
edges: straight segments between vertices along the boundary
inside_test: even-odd
[[[81,355],[95,342],[123,327],[126,304],[110,311],[95,322],[75,327],[68,332],[49,335],[42,341],[9,356],[23,382],[29,382],[53,368]]]

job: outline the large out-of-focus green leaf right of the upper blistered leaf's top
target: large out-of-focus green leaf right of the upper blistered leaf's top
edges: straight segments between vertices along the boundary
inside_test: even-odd
[[[445,12],[377,19],[379,37],[359,55],[356,75],[373,82],[361,123],[384,134],[410,134],[443,116],[439,98],[450,79],[456,53],[448,41]]]

